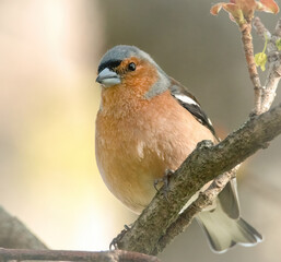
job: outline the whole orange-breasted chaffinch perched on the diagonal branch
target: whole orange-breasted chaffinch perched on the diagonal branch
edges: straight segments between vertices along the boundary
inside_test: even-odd
[[[189,90],[136,46],[118,45],[106,51],[96,82],[102,86],[95,129],[97,167],[109,191],[140,214],[156,193],[156,180],[176,170],[200,141],[218,143],[219,138]],[[218,253],[236,243],[248,247],[262,240],[241,217],[235,179],[196,219]]]

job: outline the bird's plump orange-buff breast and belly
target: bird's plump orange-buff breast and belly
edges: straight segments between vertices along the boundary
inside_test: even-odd
[[[140,213],[155,194],[154,180],[177,169],[198,142],[213,135],[169,92],[150,100],[114,87],[109,92],[96,118],[97,166],[108,189]]]

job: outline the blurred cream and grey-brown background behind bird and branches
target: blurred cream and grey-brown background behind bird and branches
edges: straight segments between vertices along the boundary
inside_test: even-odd
[[[0,1],[0,205],[49,248],[106,250],[137,218],[109,193],[95,165],[95,78],[108,48],[127,44],[149,52],[225,133],[247,119],[254,98],[239,32],[226,13],[211,16],[212,4]],[[274,27],[278,16],[258,15]],[[255,33],[254,40],[261,51]],[[278,138],[238,177],[242,214],[264,234],[262,243],[214,254],[194,223],[162,261],[280,261],[280,147]]]

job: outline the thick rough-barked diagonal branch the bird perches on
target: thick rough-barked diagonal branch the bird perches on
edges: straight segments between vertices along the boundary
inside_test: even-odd
[[[131,229],[117,241],[118,248],[148,254],[161,251],[159,242],[198,189],[267,146],[280,133],[281,105],[253,117],[216,145],[210,141],[199,143],[172,177],[168,200],[161,189]]]

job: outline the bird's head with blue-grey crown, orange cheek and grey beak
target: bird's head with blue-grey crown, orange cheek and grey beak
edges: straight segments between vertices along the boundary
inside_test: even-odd
[[[147,98],[167,90],[165,72],[144,51],[134,46],[115,46],[102,58],[96,82],[103,87],[138,88]]]

